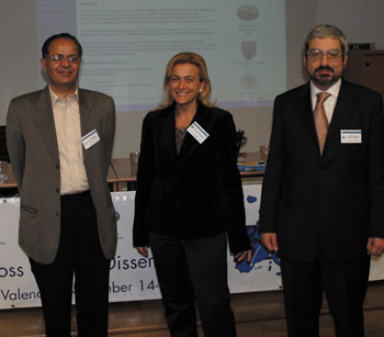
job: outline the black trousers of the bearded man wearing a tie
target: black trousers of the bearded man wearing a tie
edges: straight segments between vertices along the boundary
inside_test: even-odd
[[[353,247],[351,247],[353,249]],[[323,252],[313,261],[280,255],[290,337],[319,336],[323,292],[334,317],[336,337],[363,337],[370,256],[353,262],[330,261]]]

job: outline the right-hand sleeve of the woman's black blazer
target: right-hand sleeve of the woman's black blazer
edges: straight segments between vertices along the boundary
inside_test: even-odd
[[[233,254],[250,249],[246,227],[246,214],[244,206],[242,186],[239,170],[237,168],[236,127],[233,116],[228,113],[223,126],[222,139],[222,168],[224,194],[227,195],[227,234],[229,249]]]

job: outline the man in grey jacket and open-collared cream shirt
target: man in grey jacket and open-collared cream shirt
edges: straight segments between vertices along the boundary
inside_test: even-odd
[[[108,335],[115,211],[106,183],[112,98],[77,86],[82,48],[61,33],[43,45],[48,86],[11,101],[7,142],[21,196],[19,241],[39,288],[47,336]]]

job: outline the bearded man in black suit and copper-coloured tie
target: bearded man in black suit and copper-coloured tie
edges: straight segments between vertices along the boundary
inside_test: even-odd
[[[336,336],[364,336],[370,255],[384,248],[383,102],[341,78],[347,49],[339,29],[314,27],[310,81],[274,102],[260,232],[279,250],[291,337],[318,336],[323,291]]]

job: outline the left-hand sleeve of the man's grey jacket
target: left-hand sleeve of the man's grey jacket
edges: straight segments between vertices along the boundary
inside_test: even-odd
[[[18,181],[19,192],[21,192],[25,165],[25,142],[13,100],[9,105],[7,115],[7,148],[12,162],[12,171]]]

